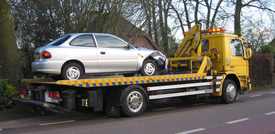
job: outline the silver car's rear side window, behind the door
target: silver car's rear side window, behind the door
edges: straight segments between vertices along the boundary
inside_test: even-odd
[[[78,46],[78,47],[96,47],[95,42],[93,41],[92,35],[84,34],[81,36],[75,37],[69,45]]]

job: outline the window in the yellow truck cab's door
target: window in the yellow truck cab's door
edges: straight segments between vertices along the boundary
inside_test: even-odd
[[[241,40],[230,39],[231,56],[244,56]]]

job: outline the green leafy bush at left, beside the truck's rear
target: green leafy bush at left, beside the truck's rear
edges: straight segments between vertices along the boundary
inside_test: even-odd
[[[16,87],[13,87],[12,85],[8,84],[9,79],[2,79],[0,78],[0,96],[4,97],[4,94],[7,92],[5,98],[4,98],[4,102],[2,101],[2,99],[0,99],[0,104],[6,104],[6,105],[10,105],[13,103],[12,98],[19,98],[19,92],[18,90],[16,90]]]

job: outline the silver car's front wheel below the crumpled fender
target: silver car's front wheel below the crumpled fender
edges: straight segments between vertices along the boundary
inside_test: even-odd
[[[157,65],[152,60],[143,61],[142,67],[140,69],[141,76],[155,76],[158,71]]]

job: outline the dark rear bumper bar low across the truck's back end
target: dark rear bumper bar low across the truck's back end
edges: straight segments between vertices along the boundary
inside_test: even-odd
[[[28,104],[28,105],[33,105],[36,107],[43,107],[43,108],[49,108],[49,109],[54,109],[57,111],[67,111],[66,108],[64,107],[59,107],[57,105],[54,104],[50,104],[47,102],[40,102],[40,101],[34,101],[34,100],[28,100],[28,99],[22,99],[22,98],[12,98],[13,101],[15,102],[19,102],[19,103],[23,103],[23,104]]]

